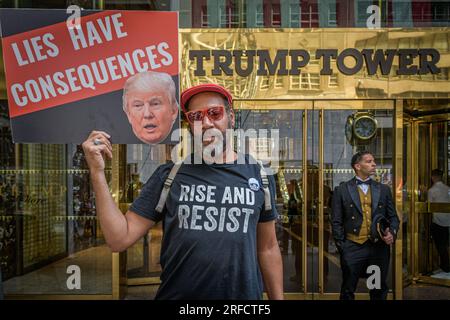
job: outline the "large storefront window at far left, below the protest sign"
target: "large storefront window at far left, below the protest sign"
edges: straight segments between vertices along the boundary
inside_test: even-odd
[[[13,144],[5,101],[0,106],[5,294],[110,295],[111,250],[97,221],[81,147]],[[110,166],[106,176],[111,181]],[[77,272],[79,282],[72,282],[69,278]]]

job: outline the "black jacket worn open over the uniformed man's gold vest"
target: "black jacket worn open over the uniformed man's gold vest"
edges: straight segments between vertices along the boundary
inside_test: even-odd
[[[363,215],[357,188],[356,178],[353,178],[334,189],[331,226],[338,247],[342,245],[346,234],[358,235],[361,229]],[[387,222],[395,238],[400,222],[395,211],[390,188],[372,180],[370,190],[372,195],[372,225],[370,228],[372,236],[376,233],[376,223],[383,220]]]

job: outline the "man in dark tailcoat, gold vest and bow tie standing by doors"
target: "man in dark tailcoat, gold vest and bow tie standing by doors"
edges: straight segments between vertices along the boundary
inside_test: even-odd
[[[335,188],[331,224],[341,256],[341,300],[353,300],[361,276],[370,265],[380,268],[379,288],[371,289],[371,300],[385,300],[388,293],[390,245],[394,243],[399,219],[391,190],[370,178],[376,163],[368,151],[352,157],[356,176]]]

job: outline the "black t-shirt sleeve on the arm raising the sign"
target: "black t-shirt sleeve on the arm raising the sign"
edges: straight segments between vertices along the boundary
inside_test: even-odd
[[[158,205],[164,181],[172,166],[173,163],[165,164],[155,170],[142,187],[139,196],[131,204],[130,211],[155,222],[162,220],[163,214],[156,212],[155,208]]]

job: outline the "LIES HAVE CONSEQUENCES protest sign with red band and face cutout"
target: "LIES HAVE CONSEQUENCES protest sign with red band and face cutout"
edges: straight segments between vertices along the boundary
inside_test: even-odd
[[[141,73],[164,73],[178,100],[176,12],[2,9],[0,22],[15,143],[80,143],[92,130],[108,132],[112,143],[140,143],[122,98],[127,79]],[[154,82],[155,92],[169,91]],[[163,126],[151,109],[159,102],[147,98],[139,129],[164,127],[149,143],[170,143],[178,108]]]

